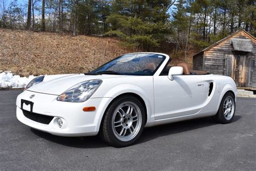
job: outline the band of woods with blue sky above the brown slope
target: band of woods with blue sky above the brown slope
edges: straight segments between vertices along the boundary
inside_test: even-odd
[[[240,28],[256,34],[254,0],[1,1],[2,28],[114,36],[147,51],[164,42],[201,49]]]

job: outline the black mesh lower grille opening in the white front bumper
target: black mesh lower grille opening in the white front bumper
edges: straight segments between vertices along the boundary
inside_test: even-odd
[[[53,116],[41,115],[38,113],[26,111],[26,110],[22,110],[22,112],[26,118],[29,118],[35,122],[46,124],[46,125],[49,125],[51,120],[54,118]]]

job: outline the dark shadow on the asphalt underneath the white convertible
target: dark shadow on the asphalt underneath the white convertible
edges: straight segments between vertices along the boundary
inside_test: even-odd
[[[241,116],[234,116],[232,122],[236,122],[239,120]],[[145,128],[142,136],[138,139],[136,144],[142,144],[147,141],[156,139],[158,137],[169,136],[171,134],[176,134],[180,132],[186,132],[196,129],[201,129],[203,127],[216,125],[218,123],[213,122],[210,117],[207,118],[200,118],[200,119],[192,119],[186,120],[183,122],[165,124],[160,126],[154,126]],[[35,133],[38,137],[46,139],[56,144],[61,144],[64,146],[69,147],[76,147],[76,148],[103,148],[109,147],[105,144],[99,136],[92,136],[92,137],[60,137],[54,136],[50,133],[38,131],[31,128],[31,131]],[[134,145],[136,145],[134,144]]]

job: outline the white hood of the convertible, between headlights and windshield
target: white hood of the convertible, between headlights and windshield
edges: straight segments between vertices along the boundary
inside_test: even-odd
[[[44,94],[60,95],[76,84],[94,79],[107,79],[112,77],[124,77],[125,75],[85,75],[66,74],[45,76],[44,81],[28,89],[28,91],[41,92]]]

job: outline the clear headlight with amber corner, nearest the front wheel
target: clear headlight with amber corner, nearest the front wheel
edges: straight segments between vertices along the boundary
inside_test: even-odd
[[[80,82],[59,95],[57,100],[64,102],[84,102],[92,96],[101,83],[102,80]]]

